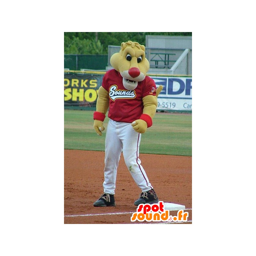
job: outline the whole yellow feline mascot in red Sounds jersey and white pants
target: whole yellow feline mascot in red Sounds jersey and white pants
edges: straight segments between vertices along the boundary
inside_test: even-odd
[[[163,86],[156,89],[154,80],[146,75],[149,62],[144,45],[132,41],[123,42],[120,52],[111,56],[110,63],[114,69],[108,70],[103,76],[96,111],[93,113],[93,127],[101,136],[105,130],[103,121],[109,108],[103,194],[93,205],[116,205],[114,194],[121,152],[127,170],[141,189],[140,197],[134,204],[155,204],[158,197],[141,165],[139,147],[141,134],[152,125],[157,96]]]

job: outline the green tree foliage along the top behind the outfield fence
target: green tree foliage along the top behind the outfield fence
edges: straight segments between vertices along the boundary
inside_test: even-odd
[[[128,40],[145,45],[146,35],[192,36],[192,32],[64,32],[64,53],[108,54],[108,45]]]

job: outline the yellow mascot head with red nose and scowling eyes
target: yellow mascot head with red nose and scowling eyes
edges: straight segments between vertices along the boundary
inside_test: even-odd
[[[124,88],[134,90],[149,69],[145,46],[132,41],[122,43],[120,52],[111,56],[110,64],[123,77]]]

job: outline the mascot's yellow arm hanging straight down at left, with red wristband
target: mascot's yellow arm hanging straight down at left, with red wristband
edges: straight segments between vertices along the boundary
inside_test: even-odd
[[[96,103],[96,111],[93,113],[93,128],[95,132],[97,132],[97,134],[99,134],[100,136],[102,135],[102,132],[105,130],[105,127],[103,126],[103,121],[106,117],[108,106],[108,91],[106,91],[102,86],[100,86],[98,91],[98,99]]]

